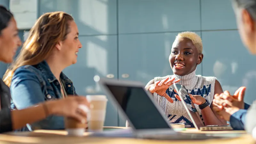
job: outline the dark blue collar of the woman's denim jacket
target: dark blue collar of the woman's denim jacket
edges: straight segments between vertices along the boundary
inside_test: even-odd
[[[36,65],[36,67],[43,73],[43,75],[47,78],[49,83],[57,80],[56,77],[52,74],[52,71],[48,65],[48,63],[44,60]],[[60,73],[60,79],[65,81],[66,83],[71,83],[72,81],[63,73]]]

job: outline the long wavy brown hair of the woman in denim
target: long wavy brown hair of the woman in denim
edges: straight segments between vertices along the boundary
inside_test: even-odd
[[[74,20],[65,12],[48,12],[36,20],[29,31],[16,60],[4,74],[3,81],[10,87],[15,70],[25,65],[36,65],[47,59],[56,44],[66,39],[70,32],[69,21]]]

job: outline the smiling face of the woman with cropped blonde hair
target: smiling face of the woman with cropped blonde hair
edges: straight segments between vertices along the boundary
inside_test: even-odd
[[[203,54],[199,53],[196,46],[188,38],[176,39],[172,44],[169,56],[173,74],[184,76],[193,72],[196,66],[203,60]]]

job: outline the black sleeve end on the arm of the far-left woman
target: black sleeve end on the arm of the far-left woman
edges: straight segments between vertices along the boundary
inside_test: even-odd
[[[0,133],[12,131],[12,117],[10,108],[0,110]]]

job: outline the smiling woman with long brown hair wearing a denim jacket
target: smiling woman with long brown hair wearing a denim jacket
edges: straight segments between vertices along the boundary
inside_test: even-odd
[[[4,82],[11,89],[12,107],[24,109],[40,102],[77,95],[72,81],[62,70],[76,63],[81,47],[72,16],[65,12],[40,16],[17,59],[4,75]],[[64,129],[64,119],[48,116],[27,126],[30,130]]]

